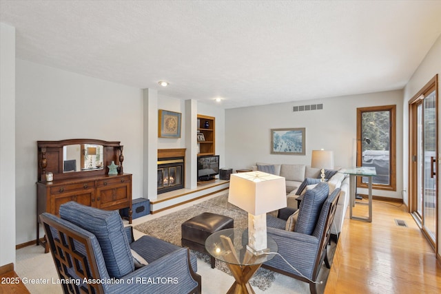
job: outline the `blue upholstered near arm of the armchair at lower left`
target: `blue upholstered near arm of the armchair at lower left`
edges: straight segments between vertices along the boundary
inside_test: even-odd
[[[109,293],[190,293],[198,287],[192,278],[186,248],[167,254],[122,280],[120,284],[107,284]]]

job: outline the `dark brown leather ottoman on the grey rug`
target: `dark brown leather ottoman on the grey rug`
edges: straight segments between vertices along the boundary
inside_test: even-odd
[[[193,249],[202,253],[209,253],[205,250],[205,240],[214,232],[223,229],[232,229],[234,220],[228,216],[220,216],[216,213],[204,212],[194,218],[183,222],[181,225],[181,244],[189,249]],[[216,259],[210,256],[212,269]]]

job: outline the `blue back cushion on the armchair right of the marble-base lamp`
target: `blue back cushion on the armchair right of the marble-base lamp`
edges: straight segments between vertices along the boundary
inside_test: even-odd
[[[298,211],[295,232],[311,235],[314,232],[320,210],[329,194],[326,182],[320,182],[314,189],[307,190]]]

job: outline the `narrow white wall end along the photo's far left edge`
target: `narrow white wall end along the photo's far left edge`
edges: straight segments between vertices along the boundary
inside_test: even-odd
[[[15,264],[15,28],[0,23],[0,266]]]

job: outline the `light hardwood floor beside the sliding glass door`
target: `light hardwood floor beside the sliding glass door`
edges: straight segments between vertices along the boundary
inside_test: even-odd
[[[367,205],[356,204],[360,213]],[[349,220],[349,209],[346,218],[326,294],[441,293],[441,266],[404,204],[374,200],[371,223]]]

